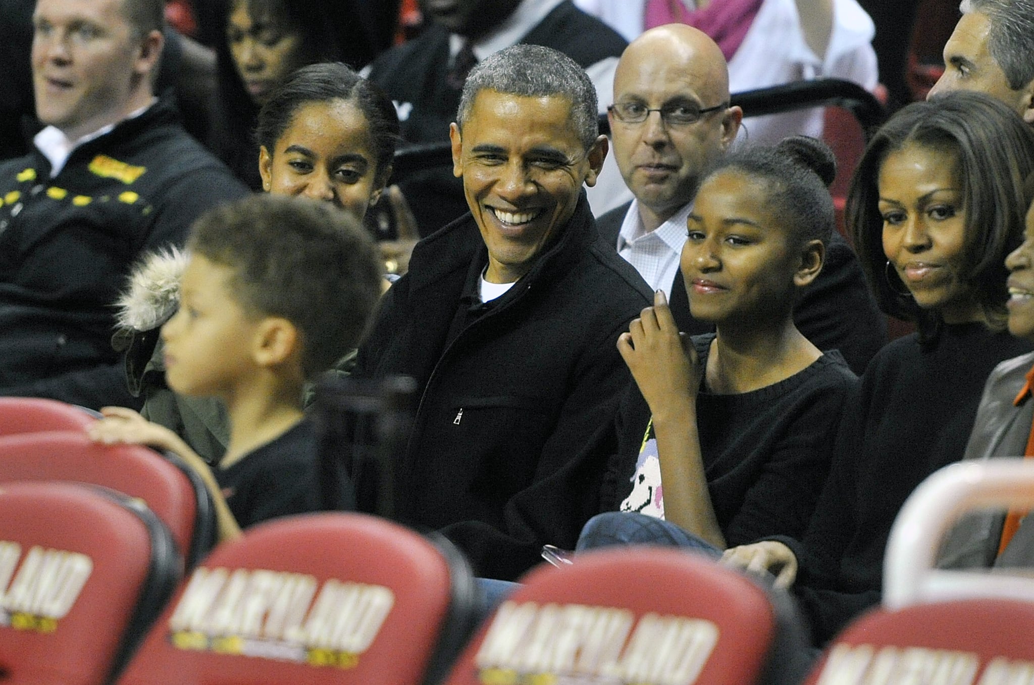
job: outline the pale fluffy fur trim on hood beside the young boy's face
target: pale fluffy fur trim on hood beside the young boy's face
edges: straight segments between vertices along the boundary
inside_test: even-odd
[[[180,306],[180,278],[187,255],[170,246],[144,257],[115,302],[119,328],[147,331],[169,321]]]

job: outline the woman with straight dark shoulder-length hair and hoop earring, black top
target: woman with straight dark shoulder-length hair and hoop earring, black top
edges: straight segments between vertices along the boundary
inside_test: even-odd
[[[848,220],[884,311],[914,321],[870,362],[847,405],[808,532],[729,549],[793,585],[816,644],[879,602],[905,499],[963,456],[989,374],[1030,350],[1005,331],[1004,260],[1020,244],[1034,130],[986,95],[901,110],[854,174]]]

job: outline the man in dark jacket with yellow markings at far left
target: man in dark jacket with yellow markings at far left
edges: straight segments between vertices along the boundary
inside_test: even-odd
[[[0,394],[133,406],[112,304],[143,252],[246,190],[152,93],[161,0],[38,0],[45,127],[0,165]]]

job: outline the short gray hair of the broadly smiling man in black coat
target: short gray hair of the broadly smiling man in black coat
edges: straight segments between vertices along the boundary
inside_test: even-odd
[[[511,46],[470,69],[456,112],[461,131],[482,90],[523,97],[566,97],[571,100],[571,123],[582,146],[588,150],[600,135],[596,87],[585,69],[551,48]]]

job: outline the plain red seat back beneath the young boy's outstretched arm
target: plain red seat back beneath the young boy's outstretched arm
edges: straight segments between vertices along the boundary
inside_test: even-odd
[[[139,445],[99,445],[82,431],[0,436],[0,482],[69,480],[140,498],[169,527],[186,568],[212,547],[215,514],[200,477]]]

